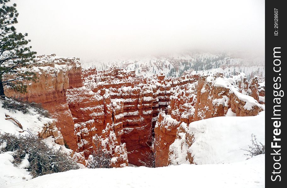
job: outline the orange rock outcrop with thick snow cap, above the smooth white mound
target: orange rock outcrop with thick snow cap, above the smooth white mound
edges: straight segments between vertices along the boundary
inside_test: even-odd
[[[259,97],[256,83],[257,80],[252,79],[252,84],[248,87],[244,73],[232,78],[221,74],[200,76],[194,121],[224,116],[229,108],[236,116],[257,115],[264,110],[264,106],[257,100]]]

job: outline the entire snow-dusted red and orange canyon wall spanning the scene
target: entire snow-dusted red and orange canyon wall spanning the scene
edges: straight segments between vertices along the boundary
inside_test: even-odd
[[[82,70],[78,58],[54,54],[36,61],[32,69],[39,80],[28,83],[26,94],[9,96],[41,103],[56,119],[63,139],[56,131],[42,135],[65,141],[83,165],[100,148],[111,156],[113,167],[143,165],[150,154],[156,166],[166,166],[172,164],[170,146],[183,132],[183,123],[262,111],[257,101],[263,89],[256,78],[248,83],[244,75],[143,77],[115,66]]]

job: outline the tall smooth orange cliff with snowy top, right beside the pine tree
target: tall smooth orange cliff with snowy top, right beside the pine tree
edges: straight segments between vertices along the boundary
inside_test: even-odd
[[[66,91],[69,88],[69,67],[67,62],[76,62],[76,58],[61,58],[54,54],[41,55],[37,59],[38,66],[32,67],[38,81],[27,84],[27,93],[19,95],[10,93],[10,96],[20,97],[24,101],[41,103],[52,118],[55,118],[56,127],[61,131],[64,140],[74,151],[77,150],[74,121],[66,102]],[[75,63],[76,64],[76,63]]]

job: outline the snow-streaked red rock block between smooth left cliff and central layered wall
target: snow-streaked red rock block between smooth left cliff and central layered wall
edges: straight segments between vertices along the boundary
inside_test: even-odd
[[[67,103],[75,123],[79,151],[91,150],[95,134],[101,135],[104,126],[103,97],[85,87],[68,89]],[[85,153],[86,157],[89,153]]]

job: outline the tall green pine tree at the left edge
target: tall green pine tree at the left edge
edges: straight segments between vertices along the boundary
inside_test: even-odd
[[[31,51],[26,40],[27,33],[17,33],[19,13],[16,4],[6,5],[10,0],[0,0],[0,96],[5,97],[7,88],[25,93],[27,86],[23,81],[36,81],[30,70],[36,52]]]

